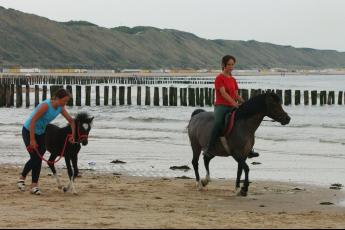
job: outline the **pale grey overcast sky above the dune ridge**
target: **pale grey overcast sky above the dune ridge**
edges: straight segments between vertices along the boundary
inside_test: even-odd
[[[207,39],[345,51],[345,0],[0,0],[56,21],[154,26]]]

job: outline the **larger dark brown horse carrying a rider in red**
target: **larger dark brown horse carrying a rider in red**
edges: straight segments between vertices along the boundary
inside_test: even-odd
[[[197,186],[199,189],[205,187],[210,181],[209,164],[214,156],[232,156],[238,162],[236,179],[236,190],[240,188],[242,172],[245,172],[243,187],[239,193],[247,196],[249,187],[249,166],[246,163],[248,153],[254,146],[255,131],[259,128],[264,117],[287,125],[290,122],[289,115],[283,110],[281,100],[275,93],[265,93],[251,98],[243,103],[236,111],[235,124],[225,137],[221,137],[216,147],[210,150],[213,156],[204,156],[207,175],[205,180],[200,181],[199,158],[201,151],[206,148],[214,123],[212,112],[195,110],[188,125],[188,135],[193,150],[193,167],[195,171]]]

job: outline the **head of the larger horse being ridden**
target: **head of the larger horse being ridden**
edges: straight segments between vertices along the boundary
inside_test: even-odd
[[[281,105],[280,97],[275,93],[266,94],[266,115],[275,121],[280,122],[282,125],[290,123],[290,116],[284,111]]]

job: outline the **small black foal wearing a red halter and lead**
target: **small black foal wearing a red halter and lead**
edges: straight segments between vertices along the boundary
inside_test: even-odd
[[[68,135],[71,135],[72,133],[72,128],[70,125],[64,128],[59,128],[58,126],[52,124],[47,126],[46,147],[51,153],[48,165],[52,170],[54,177],[56,178],[59,189],[62,189],[63,187],[56,173],[54,161],[57,157],[60,157],[62,152],[65,157],[70,183],[67,188],[63,188],[64,192],[67,192],[72,188],[72,192],[77,194],[73,182],[79,174],[78,153],[81,149],[81,145],[85,146],[88,144],[88,136],[91,130],[93,119],[94,117],[89,117],[87,113],[77,114],[76,118],[74,119],[76,125],[76,133],[74,137],[75,143],[70,143],[68,141]],[[73,169],[71,163],[73,165]]]

